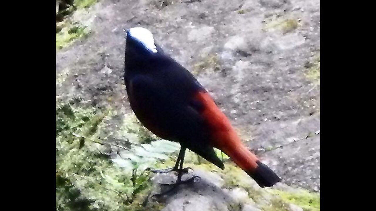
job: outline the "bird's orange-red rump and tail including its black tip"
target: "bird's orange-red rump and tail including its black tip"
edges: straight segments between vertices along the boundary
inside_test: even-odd
[[[280,182],[280,178],[276,173],[259,161],[256,155],[244,146],[230,121],[215,105],[208,93],[199,92],[196,95],[196,99],[204,104],[201,115],[203,115],[211,129],[213,147],[228,155],[260,187],[271,187]]]

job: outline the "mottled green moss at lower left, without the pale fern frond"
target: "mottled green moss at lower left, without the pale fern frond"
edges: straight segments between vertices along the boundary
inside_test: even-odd
[[[120,167],[105,154],[106,137],[101,134],[112,115],[111,109],[77,107],[73,102],[57,105],[56,210],[142,210],[136,208],[150,191],[150,172],[132,162],[127,171],[126,160]]]

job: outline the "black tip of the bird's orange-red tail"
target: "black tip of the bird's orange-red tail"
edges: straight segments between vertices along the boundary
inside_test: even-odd
[[[279,176],[273,172],[267,165],[256,162],[258,167],[252,173],[248,173],[260,187],[271,187],[281,181]]]

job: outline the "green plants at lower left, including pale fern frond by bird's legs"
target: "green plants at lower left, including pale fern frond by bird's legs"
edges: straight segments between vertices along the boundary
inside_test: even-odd
[[[150,188],[150,171],[179,144],[150,139],[142,126],[126,116],[128,128],[120,133],[124,139],[136,136],[120,155],[110,159],[105,153],[108,143],[101,132],[113,112],[80,108],[73,103],[56,108],[56,210],[124,210],[135,206]],[[138,133],[141,133],[138,137]]]

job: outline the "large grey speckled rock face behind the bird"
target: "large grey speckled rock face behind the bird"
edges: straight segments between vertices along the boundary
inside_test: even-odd
[[[102,0],[73,18],[92,32],[56,53],[57,98],[130,113],[123,29],[147,27],[284,183],[320,191],[320,79],[309,77],[320,57],[319,0]],[[221,203],[196,195],[185,210],[205,210],[204,201]]]

